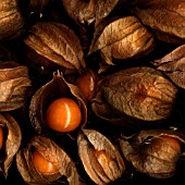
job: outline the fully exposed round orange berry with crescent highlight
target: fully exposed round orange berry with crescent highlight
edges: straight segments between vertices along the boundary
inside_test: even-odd
[[[59,98],[51,102],[46,112],[46,122],[51,130],[71,132],[82,121],[79,106],[71,98]]]

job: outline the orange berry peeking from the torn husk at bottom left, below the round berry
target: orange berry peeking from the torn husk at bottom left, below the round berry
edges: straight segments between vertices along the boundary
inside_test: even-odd
[[[47,161],[37,150],[33,152],[33,162],[36,170],[41,174],[52,174],[58,172],[58,169]]]

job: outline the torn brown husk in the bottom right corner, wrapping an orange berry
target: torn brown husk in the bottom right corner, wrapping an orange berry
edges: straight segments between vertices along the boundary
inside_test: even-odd
[[[119,139],[123,156],[134,168],[156,178],[168,178],[175,174],[183,151],[161,136],[175,138],[185,144],[185,135],[172,130],[146,130],[131,137]],[[183,147],[181,147],[183,149]]]

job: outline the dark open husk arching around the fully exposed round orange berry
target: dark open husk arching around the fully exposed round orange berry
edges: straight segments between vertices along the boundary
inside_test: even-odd
[[[55,74],[53,78],[41,86],[32,97],[29,107],[29,119],[33,127],[38,134],[45,132],[46,121],[45,113],[48,106],[58,98],[67,97],[77,102],[82,110],[82,122],[84,125],[87,121],[87,108],[82,99],[81,91],[77,86],[67,83],[60,74]]]

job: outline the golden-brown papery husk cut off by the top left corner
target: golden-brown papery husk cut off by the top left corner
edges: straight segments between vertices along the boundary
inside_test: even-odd
[[[0,2],[0,40],[5,41],[20,37],[24,33],[25,21],[18,9],[17,0]]]

